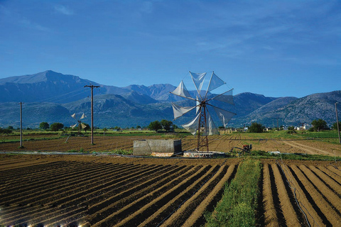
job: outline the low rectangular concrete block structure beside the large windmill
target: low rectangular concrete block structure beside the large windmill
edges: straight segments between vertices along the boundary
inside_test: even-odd
[[[133,155],[171,157],[181,152],[181,140],[134,140]]]

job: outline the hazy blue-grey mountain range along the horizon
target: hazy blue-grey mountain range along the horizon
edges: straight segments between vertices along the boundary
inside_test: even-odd
[[[161,119],[173,121],[171,102],[193,105],[171,94],[175,89],[171,84],[114,87],[48,70],[0,79],[0,126],[20,125],[19,102],[23,102],[24,128],[38,128],[43,121],[70,126],[77,123],[70,116],[74,113],[76,117],[85,113],[88,118],[83,122],[90,123],[90,88],[85,87],[90,84],[99,86],[94,88],[94,126],[100,128],[148,126],[151,121]],[[219,107],[237,114],[229,127],[249,126],[252,122],[269,127],[275,127],[277,123],[298,126],[317,118],[328,124],[336,122],[337,101],[341,103],[341,91],[310,94],[299,99],[245,92],[234,95],[234,106],[220,104]],[[340,105],[337,108],[341,111]],[[193,117],[194,113],[188,113],[173,123],[180,125]],[[221,125],[217,118],[215,122],[217,126]]]

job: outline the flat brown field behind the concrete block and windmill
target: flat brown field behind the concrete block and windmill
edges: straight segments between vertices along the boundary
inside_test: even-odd
[[[256,135],[255,135],[256,134]],[[288,138],[271,138],[269,133],[235,133],[232,135],[210,135],[210,150],[229,152],[234,147],[242,148],[242,145],[251,144],[253,150],[280,151],[282,153],[306,153],[308,155],[331,155],[341,156],[341,146],[332,139],[334,143],[325,142],[320,139],[307,139],[301,136],[289,136]],[[140,139],[181,139],[183,150],[195,148],[196,138],[188,135],[180,138],[178,135],[95,135],[94,145],[90,144],[90,137],[60,138],[57,135],[25,135],[23,136],[24,148],[18,148],[18,142],[6,142],[18,140],[16,136],[1,136],[1,151],[80,151],[87,153],[93,151],[110,150],[133,150],[134,140]],[[5,143],[6,142],[6,143]]]

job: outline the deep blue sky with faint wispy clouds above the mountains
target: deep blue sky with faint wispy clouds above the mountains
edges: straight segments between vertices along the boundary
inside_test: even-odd
[[[302,97],[340,90],[340,22],[341,1],[0,0],[0,78],[178,86],[215,71],[234,94]]]

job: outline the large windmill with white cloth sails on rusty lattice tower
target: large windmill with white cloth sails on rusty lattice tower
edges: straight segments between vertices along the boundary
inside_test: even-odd
[[[213,111],[215,111],[217,116],[220,118],[220,121],[222,121],[224,128],[226,128],[229,120],[236,114],[224,109],[220,109],[216,105],[214,106],[211,104],[212,101],[222,101],[224,103],[234,105],[232,96],[233,89],[230,89],[227,92],[223,92],[217,95],[210,94],[212,90],[217,89],[223,84],[226,84],[226,82],[222,81],[222,79],[217,77],[215,72],[212,72],[206,91],[202,91],[202,85],[204,84],[205,76],[206,72],[203,73],[190,72],[190,77],[193,80],[195,89],[197,91],[195,98],[190,96],[190,93],[186,89],[183,81],[180,82],[179,86],[173,92],[171,92],[171,94],[175,94],[176,96],[180,96],[185,99],[195,101],[195,104],[193,104],[193,106],[185,107],[172,103],[174,120],[176,118],[179,118],[180,116],[183,116],[183,114],[186,114],[189,111],[196,109],[195,118],[193,118],[192,121],[183,124],[182,126],[183,128],[190,131],[190,133],[192,133],[193,135],[197,134],[197,148],[195,148],[195,150],[200,151],[200,148],[202,149],[206,148],[208,152],[209,148],[207,135],[219,134],[215,126],[215,123],[211,118],[209,108],[211,109],[211,111],[212,109]]]

